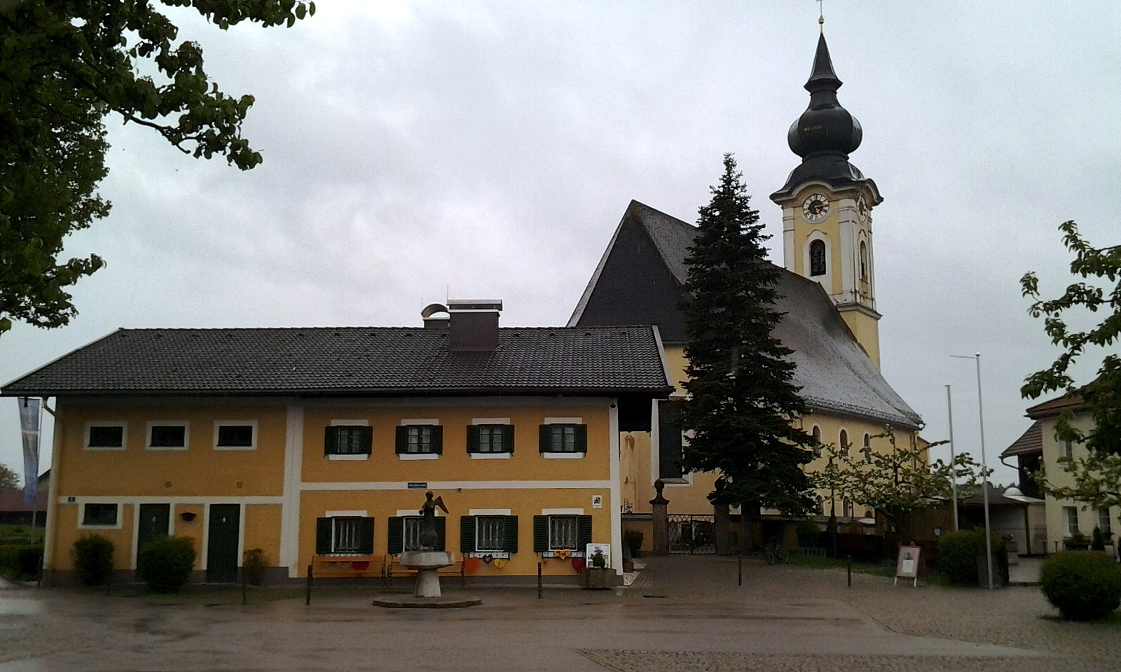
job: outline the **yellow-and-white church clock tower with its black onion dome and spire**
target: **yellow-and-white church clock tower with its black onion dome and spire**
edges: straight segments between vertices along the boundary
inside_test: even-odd
[[[837,102],[841,80],[817,39],[806,82],[809,106],[787,133],[802,164],[771,200],[782,208],[784,265],[825,288],[856,340],[880,365],[876,311],[872,208],[883,199],[876,183],[849,162],[860,147],[860,122]]]

